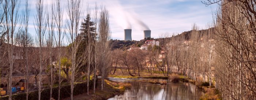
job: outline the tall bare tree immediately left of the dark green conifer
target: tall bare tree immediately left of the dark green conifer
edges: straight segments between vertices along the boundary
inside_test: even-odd
[[[67,29],[69,33],[68,41],[70,43],[70,51],[71,51],[71,100],[73,100],[73,90],[74,90],[74,82],[75,82],[75,75],[77,69],[80,66],[80,61],[83,61],[82,58],[77,58],[76,52],[78,50],[79,44],[81,39],[76,39],[78,36],[78,27],[81,15],[81,0],[68,0],[67,4],[67,13],[68,13],[68,20],[67,20]],[[81,56],[83,57],[83,56]]]

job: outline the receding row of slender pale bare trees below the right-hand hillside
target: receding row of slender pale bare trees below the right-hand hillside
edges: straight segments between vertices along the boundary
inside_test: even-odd
[[[185,34],[185,33],[184,33]],[[188,39],[183,36],[170,38],[169,63],[170,73],[178,73],[189,78],[212,84],[212,60],[215,40],[214,29],[200,30],[195,24],[188,32]],[[182,40],[183,39],[183,40]]]

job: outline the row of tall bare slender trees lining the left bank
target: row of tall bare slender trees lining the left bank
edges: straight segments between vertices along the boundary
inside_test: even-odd
[[[83,8],[81,0],[67,0],[67,4],[61,4],[60,0],[51,1],[50,6],[46,6],[44,0],[35,1],[35,18],[34,28],[36,32],[35,41],[29,34],[30,21],[30,3],[26,0],[25,9],[22,15],[19,13],[20,0],[1,0],[0,11],[0,27],[1,27],[1,45],[7,44],[9,73],[8,73],[8,95],[9,100],[12,97],[11,88],[14,85],[12,82],[12,73],[16,58],[14,53],[19,51],[16,47],[22,47],[23,50],[23,64],[20,68],[25,73],[26,87],[29,87],[30,72],[33,72],[35,77],[35,84],[38,82],[38,100],[41,99],[41,92],[43,82],[43,75],[49,76],[50,97],[52,97],[53,84],[59,85],[58,100],[60,100],[61,83],[67,80],[71,85],[71,99],[73,99],[73,91],[76,82],[83,81],[83,77],[87,77],[87,95],[89,95],[89,81],[91,75],[94,77],[94,93],[97,79],[97,72],[101,73],[102,85],[105,85],[105,76],[108,75],[110,69],[110,26],[109,26],[109,12],[105,7],[101,7],[98,11],[98,6],[95,4],[93,24],[85,22],[89,27],[84,31],[81,20],[83,18]],[[65,9],[63,7],[65,5]],[[90,7],[87,5],[87,15],[91,15]],[[2,9],[3,8],[3,9]],[[63,19],[64,11],[67,13],[67,19]],[[99,12],[99,15],[97,14]],[[21,18],[19,16],[22,16]],[[91,19],[89,19],[91,22]],[[93,29],[91,30],[91,28]],[[82,33],[86,36],[83,37]],[[85,49],[80,49],[85,39]],[[6,40],[6,41],[5,41]],[[67,51],[63,49],[63,41],[67,42]],[[9,45],[10,44],[10,45]],[[36,44],[37,47],[33,47]],[[38,48],[37,52],[31,52],[31,48]],[[1,49],[1,48],[0,48]],[[4,55],[1,49],[1,55]],[[48,52],[46,52],[48,51]],[[37,53],[37,54],[30,54]],[[58,53],[57,53],[58,52]],[[81,53],[82,52],[82,53]],[[37,65],[33,61],[29,61],[29,57],[38,56]],[[65,60],[63,57],[66,57]],[[3,58],[1,57],[0,61]],[[6,58],[4,58],[6,59]],[[71,63],[70,65],[68,63]],[[16,62],[17,63],[17,62]],[[63,63],[63,64],[62,64]],[[3,67],[1,67],[3,68]],[[48,71],[49,68],[49,71]],[[56,74],[58,73],[58,75]],[[63,76],[66,74],[66,77]],[[85,74],[86,73],[86,74]],[[69,75],[71,74],[71,75]],[[70,77],[70,78],[69,78]],[[58,81],[56,81],[56,79]],[[29,96],[29,88],[26,89],[26,99]],[[54,98],[56,99],[56,98]]]

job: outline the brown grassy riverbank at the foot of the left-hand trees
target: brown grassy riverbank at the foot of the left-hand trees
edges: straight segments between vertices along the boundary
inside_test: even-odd
[[[126,88],[130,88],[131,84],[118,83],[110,80],[105,80],[105,87],[103,91],[101,91],[101,80],[97,81],[97,87],[95,89],[95,93],[93,93],[93,89],[90,89],[89,95],[86,93],[75,95],[73,100],[107,100],[116,95],[121,95],[124,93]],[[65,98],[63,100],[70,100],[70,97]]]

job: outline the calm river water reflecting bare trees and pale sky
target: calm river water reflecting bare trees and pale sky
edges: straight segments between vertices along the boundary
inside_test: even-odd
[[[123,95],[116,95],[108,100],[199,100],[204,92],[191,83],[173,83],[167,79],[120,79],[110,80],[130,83]],[[134,80],[166,81],[166,85],[138,82]]]

